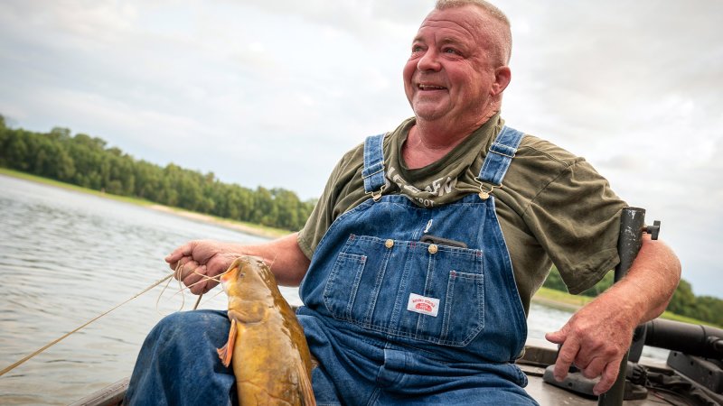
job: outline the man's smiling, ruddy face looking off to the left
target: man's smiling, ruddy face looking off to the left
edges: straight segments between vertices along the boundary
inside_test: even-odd
[[[496,68],[489,20],[474,5],[427,15],[403,72],[418,119],[467,123],[487,113]]]

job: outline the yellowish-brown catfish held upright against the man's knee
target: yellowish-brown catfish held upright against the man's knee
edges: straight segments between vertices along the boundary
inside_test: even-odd
[[[233,374],[239,404],[315,405],[311,355],[294,310],[266,263],[237,258],[221,276],[229,296],[229,341],[218,349]]]

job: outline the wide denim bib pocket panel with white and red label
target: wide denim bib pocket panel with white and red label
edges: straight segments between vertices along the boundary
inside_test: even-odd
[[[350,235],[324,286],[333,318],[395,337],[465,346],[484,328],[483,252]]]

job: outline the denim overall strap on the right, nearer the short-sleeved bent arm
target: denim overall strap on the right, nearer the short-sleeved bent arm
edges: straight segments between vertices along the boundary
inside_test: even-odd
[[[502,131],[497,135],[492,145],[490,145],[489,153],[487,153],[487,157],[484,158],[482,169],[477,177],[477,180],[480,182],[491,185],[489,190],[486,191],[482,189],[482,185],[480,186],[482,191],[480,194],[481,197],[485,198],[483,194],[489,196],[492,189],[502,186],[504,174],[507,173],[507,169],[510,167],[510,163],[512,163],[512,158],[514,158],[514,154],[517,152],[517,147],[520,146],[523,136],[524,133],[521,131],[517,131],[506,125],[502,127]]]

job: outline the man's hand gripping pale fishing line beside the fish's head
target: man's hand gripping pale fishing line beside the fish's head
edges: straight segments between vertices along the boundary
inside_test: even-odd
[[[175,278],[193,294],[210,291],[219,282],[209,278],[225,272],[234,259],[243,255],[240,245],[211,240],[195,240],[179,246],[165,257]]]

